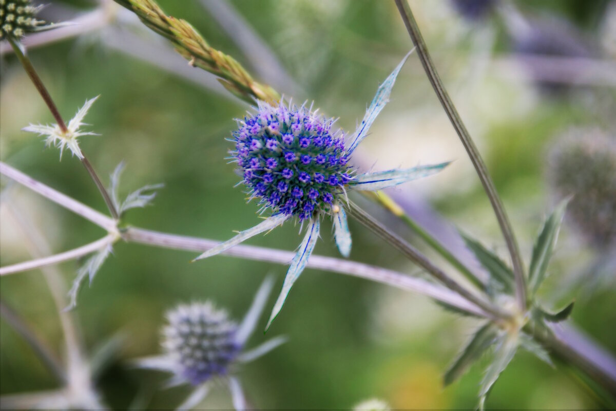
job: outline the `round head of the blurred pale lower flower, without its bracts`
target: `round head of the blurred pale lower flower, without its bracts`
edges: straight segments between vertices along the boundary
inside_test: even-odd
[[[241,350],[237,324],[213,304],[180,305],[167,313],[163,347],[177,362],[179,373],[193,385],[226,375]]]

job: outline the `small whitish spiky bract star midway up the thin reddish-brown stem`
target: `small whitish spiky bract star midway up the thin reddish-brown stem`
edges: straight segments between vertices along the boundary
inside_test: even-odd
[[[52,124],[51,126],[30,124],[30,126],[25,127],[22,130],[36,132],[39,136],[46,136],[45,145],[47,145],[47,147],[54,145],[59,148],[60,159],[62,159],[62,152],[65,147],[68,147],[68,149],[71,150],[71,153],[76,155],[79,160],[81,160],[83,158],[83,154],[81,153],[81,149],[79,149],[79,142],[77,141],[77,138],[81,136],[98,135],[95,132],[86,132],[81,130],[81,126],[87,125],[83,122],[84,117],[86,116],[88,110],[90,110],[90,107],[92,107],[92,104],[94,104],[98,98],[99,96],[96,96],[94,99],[87,100],[86,104],[79,108],[79,111],[76,113],[75,117],[68,122],[67,131],[63,131],[58,124]]]

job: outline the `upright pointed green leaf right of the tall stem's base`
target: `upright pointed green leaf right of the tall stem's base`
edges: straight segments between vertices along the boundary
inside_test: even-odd
[[[569,203],[570,198],[566,198],[556,207],[556,210],[543,224],[543,229],[537,241],[533,246],[533,255],[530,259],[530,271],[529,271],[529,289],[531,295],[534,294],[543,279],[545,279],[545,272],[548,268],[549,259],[554,251],[554,245],[556,245],[556,239],[558,238],[558,231],[561,228],[562,218],[565,215],[565,208]]]

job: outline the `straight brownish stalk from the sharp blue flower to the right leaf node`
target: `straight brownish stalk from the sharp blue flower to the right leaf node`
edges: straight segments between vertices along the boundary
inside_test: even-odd
[[[418,264],[419,267],[422,267],[424,270],[428,271],[429,274],[431,274],[433,277],[443,283],[445,287],[449,288],[452,291],[455,291],[459,295],[466,298],[468,301],[471,301],[471,303],[476,304],[484,311],[492,314],[492,319],[496,322],[498,322],[498,320],[500,319],[508,319],[509,317],[511,317],[511,314],[509,314],[508,312],[502,311],[499,307],[496,307],[488,301],[477,297],[470,291],[466,290],[466,288],[455,282],[455,280],[453,280],[445,272],[439,269],[439,267],[432,264],[432,262],[428,258],[426,258],[426,256],[421,254],[415,247],[407,243],[405,240],[403,240],[403,238],[400,238],[398,235],[388,230],[387,227],[381,224],[381,222],[376,221],[373,216],[363,211],[361,208],[359,208],[359,206],[355,205],[355,203],[351,201],[349,202],[349,205],[349,213],[354,216],[357,221],[361,222],[365,227],[372,230],[372,232],[374,232],[376,235],[383,238],[383,240],[394,246],[402,254],[407,256],[411,261]]]

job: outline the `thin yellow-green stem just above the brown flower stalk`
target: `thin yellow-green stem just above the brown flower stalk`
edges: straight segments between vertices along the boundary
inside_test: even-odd
[[[468,269],[468,267],[464,266],[463,262],[456,258],[456,256],[454,256],[452,253],[450,253],[450,251],[447,250],[447,248],[445,248],[445,246],[442,245],[439,240],[432,237],[432,235],[430,235],[426,230],[424,230],[423,227],[419,226],[419,224],[417,224],[415,220],[410,218],[410,216],[408,216],[408,214],[405,213],[404,210],[402,210],[402,207],[400,207],[400,205],[396,203],[393,198],[389,197],[389,195],[387,195],[383,191],[378,191],[376,193],[364,193],[367,195],[368,198],[373,198],[374,200],[378,201],[389,212],[394,214],[394,216],[400,218],[403,222],[405,222],[405,224],[407,224],[407,226],[411,230],[413,230],[416,235],[421,237],[424,242],[431,246],[432,249],[436,251],[447,262],[452,264],[453,267],[458,269],[458,271],[460,271],[461,274],[463,274],[464,277],[466,277],[466,279],[468,279],[473,285],[475,285],[480,290],[485,290],[485,284],[480,279],[478,279],[477,276]]]

